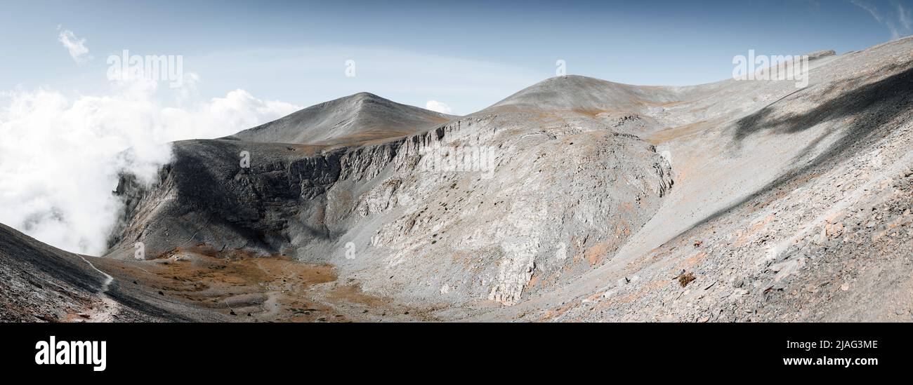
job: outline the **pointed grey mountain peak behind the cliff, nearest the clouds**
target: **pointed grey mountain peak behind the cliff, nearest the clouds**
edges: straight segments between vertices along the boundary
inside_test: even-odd
[[[296,144],[360,143],[415,134],[453,118],[361,92],[301,109],[226,139]]]

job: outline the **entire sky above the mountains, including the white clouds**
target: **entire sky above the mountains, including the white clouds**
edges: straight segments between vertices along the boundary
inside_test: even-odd
[[[170,140],[229,135],[362,91],[465,115],[555,76],[559,61],[567,74],[629,84],[719,81],[750,49],[845,53],[909,36],[913,0],[4,0],[0,9],[0,223],[97,255],[121,207],[110,195],[117,172],[151,180]],[[134,55],[173,61],[120,71],[135,69]]]

